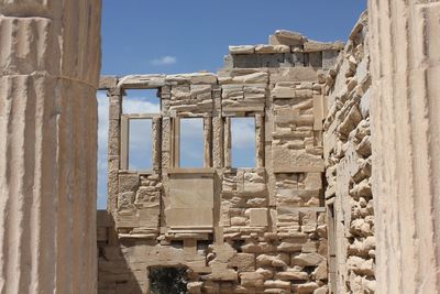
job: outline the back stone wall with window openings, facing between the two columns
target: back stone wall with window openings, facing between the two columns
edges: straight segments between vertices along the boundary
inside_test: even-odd
[[[324,73],[342,48],[286,31],[231,46],[218,75],[106,77],[109,211],[98,215],[99,292],[148,293],[148,270],[186,266],[189,293],[326,293]],[[318,78],[319,77],[319,78]],[[157,89],[160,115],[124,115]],[[179,166],[179,120],[204,120],[204,166]],[[231,120],[253,118],[255,166],[232,166]],[[128,168],[130,120],[153,123],[153,167]]]

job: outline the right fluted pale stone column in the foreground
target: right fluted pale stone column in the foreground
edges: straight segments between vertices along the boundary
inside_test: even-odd
[[[438,293],[440,1],[369,10],[377,293]]]

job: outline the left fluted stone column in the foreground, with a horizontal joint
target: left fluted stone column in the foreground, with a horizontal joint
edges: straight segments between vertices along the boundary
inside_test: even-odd
[[[100,0],[0,0],[0,293],[96,293]]]

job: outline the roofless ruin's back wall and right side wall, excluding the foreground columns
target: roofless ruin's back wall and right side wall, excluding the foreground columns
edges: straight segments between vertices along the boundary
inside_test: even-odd
[[[267,45],[230,46],[217,75],[102,77],[109,215],[98,215],[99,293],[150,293],[156,268],[186,269],[194,294],[328,293],[329,284],[374,293],[366,34],[364,14],[346,45],[276,31]],[[123,113],[129,89],[156,89],[160,113]],[[180,122],[190,118],[204,121],[198,168],[179,166]],[[232,165],[234,118],[254,121],[252,168]],[[129,168],[139,119],[152,122],[148,171]]]

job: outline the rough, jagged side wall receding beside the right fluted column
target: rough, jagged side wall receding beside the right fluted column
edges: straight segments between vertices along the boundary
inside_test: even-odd
[[[326,78],[326,205],[332,293],[374,293],[367,14],[354,26]]]

